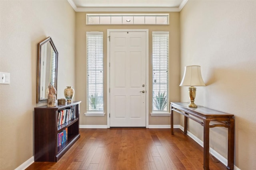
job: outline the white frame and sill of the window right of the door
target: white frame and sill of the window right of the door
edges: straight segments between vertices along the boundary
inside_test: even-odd
[[[167,77],[166,77],[166,86],[167,86],[167,88],[166,88],[166,97],[167,97],[167,103],[166,103],[166,110],[153,110],[154,109],[154,103],[153,103],[153,101],[154,101],[154,93],[153,93],[153,90],[154,90],[154,88],[153,88],[153,84],[152,84],[152,113],[151,113],[151,115],[152,116],[166,116],[166,115],[170,115],[170,113],[169,113],[169,31],[152,31],[152,64],[153,64],[153,60],[154,60],[154,52],[153,52],[153,35],[154,34],[165,34],[165,35],[168,35],[168,47],[167,47],[167,49],[166,49],[166,53],[167,53],[167,66],[168,66],[168,68],[167,68]],[[153,67],[153,65],[152,65],[152,78],[153,78],[153,74],[154,74],[154,67]],[[152,81],[154,81],[153,79],[152,79]],[[153,83],[153,82],[152,82]]]

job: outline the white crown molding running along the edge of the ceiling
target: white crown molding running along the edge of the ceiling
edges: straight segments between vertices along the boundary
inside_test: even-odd
[[[75,12],[180,12],[188,0],[182,0],[178,8],[173,7],[84,7],[78,8],[73,0],[68,0]]]

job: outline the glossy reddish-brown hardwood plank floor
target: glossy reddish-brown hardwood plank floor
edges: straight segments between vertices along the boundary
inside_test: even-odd
[[[180,129],[80,129],[80,139],[58,162],[26,170],[203,170],[203,148]],[[216,161],[216,160],[214,160]],[[211,170],[226,170],[210,157]]]

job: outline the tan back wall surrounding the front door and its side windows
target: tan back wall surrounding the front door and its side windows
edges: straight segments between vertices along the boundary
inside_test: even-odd
[[[127,13],[127,12],[126,12]],[[90,12],[91,14],[91,12]],[[80,105],[80,125],[107,125],[105,116],[85,116],[86,112],[86,31],[102,31],[104,35],[104,113],[107,113],[107,29],[148,29],[149,30],[149,82],[152,82],[152,31],[170,31],[170,101],[180,100],[180,14],[170,13],[170,25],[86,25],[86,13],[76,12],[76,98]],[[149,91],[152,84],[149,83]],[[152,93],[149,94],[149,125],[170,125],[170,116],[151,116]],[[178,124],[175,115],[174,123]]]

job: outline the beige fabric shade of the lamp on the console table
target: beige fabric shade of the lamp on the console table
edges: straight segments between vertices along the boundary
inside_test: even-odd
[[[201,66],[185,66],[180,86],[205,86],[201,75]]]

